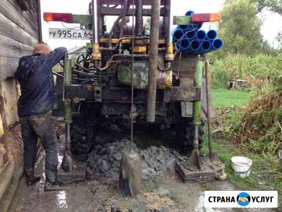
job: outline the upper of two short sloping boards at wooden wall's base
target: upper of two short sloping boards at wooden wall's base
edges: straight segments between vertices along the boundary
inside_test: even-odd
[[[13,161],[8,162],[4,169],[5,170],[1,173],[0,176],[0,199],[11,183],[13,174],[15,172],[15,163]]]

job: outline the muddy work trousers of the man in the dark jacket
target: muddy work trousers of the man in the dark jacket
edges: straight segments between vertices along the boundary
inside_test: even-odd
[[[31,169],[36,162],[36,144],[40,138],[45,150],[45,173],[57,171],[57,136],[55,119],[51,113],[20,118],[24,140],[24,169]],[[47,177],[47,176],[46,176]]]

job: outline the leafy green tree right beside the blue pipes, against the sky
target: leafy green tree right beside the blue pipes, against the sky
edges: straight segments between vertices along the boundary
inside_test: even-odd
[[[256,5],[250,0],[226,1],[219,23],[224,52],[254,55],[261,50],[262,22],[256,13]]]

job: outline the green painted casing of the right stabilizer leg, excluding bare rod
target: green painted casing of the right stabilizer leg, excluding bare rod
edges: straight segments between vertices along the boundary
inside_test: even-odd
[[[203,68],[203,63],[201,61],[200,56],[198,56],[195,74],[194,74],[194,86],[195,87],[202,86],[202,68]],[[193,121],[194,121],[194,125],[201,124],[201,100],[194,101],[193,103]]]

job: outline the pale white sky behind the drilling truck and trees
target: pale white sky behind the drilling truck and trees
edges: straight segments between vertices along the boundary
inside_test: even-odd
[[[45,22],[43,20],[43,12],[51,13],[72,13],[72,14],[81,14],[86,15],[88,13],[88,6],[90,0],[41,0],[41,19],[42,19],[42,37],[43,41],[46,42],[51,48],[56,48],[64,46],[66,48],[71,48],[75,46],[85,45],[88,40],[69,40],[69,39],[52,39],[49,38],[49,28],[73,28],[79,26],[78,24],[66,24],[62,25],[61,22]],[[172,14],[174,16],[182,16],[188,10],[192,10],[195,13],[219,13],[223,8],[224,0],[197,0],[189,1],[186,0],[172,0]],[[263,18],[263,26],[261,28],[261,33],[264,36],[265,40],[268,40],[269,43],[277,47],[278,43],[275,41],[277,33],[282,30],[282,16],[278,14],[273,14],[267,11],[264,11],[261,14]],[[112,24],[112,20],[107,20],[106,24],[107,29],[109,29]],[[215,25],[211,28],[216,27]],[[209,23],[205,23],[203,26],[204,29],[209,28]]]

